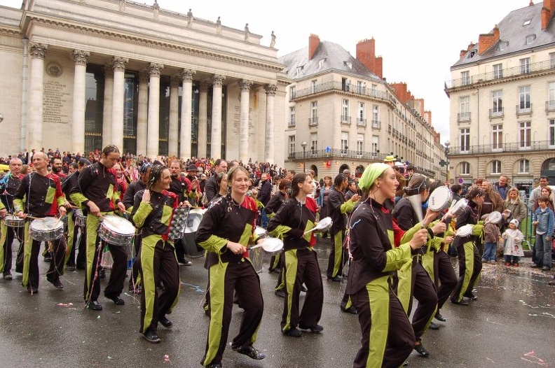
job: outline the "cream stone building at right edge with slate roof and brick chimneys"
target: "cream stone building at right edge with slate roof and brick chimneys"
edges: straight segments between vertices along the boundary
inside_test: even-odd
[[[555,1],[514,10],[451,66],[451,177],[555,184]]]

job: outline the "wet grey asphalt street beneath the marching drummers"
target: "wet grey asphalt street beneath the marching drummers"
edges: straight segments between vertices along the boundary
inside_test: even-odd
[[[17,250],[15,244],[13,248]],[[277,274],[268,274],[266,256],[259,274],[264,316],[254,344],[266,359],[251,360],[228,348],[224,367],[352,366],[360,344],[359,324],[357,316],[339,309],[345,285],[325,279],[329,248],[329,239],[318,239],[324,331],[300,338],[282,335],[283,299],[274,295]],[[179,304],[168,316],[174,326],[159,327],[163,341],[156,345],[139,334],[139,299],[127,292],[127,283],[125,306],[100,297],[104,310],[95,312],[83,303],[83,271],[65,274],[64,289],[56,290],[46,281],[48,264],[41,258],[37,295],[22,287],[20,274],[14,273],[13,281],[1,280],[1,367],[200,367],[209,323],[202,309],[207,271],[202,258],[192,261],[192,266],[181,267]],[[529,258],[519,268],[484,264],[476,290],[479,299],[470,306],[448,302],[441,310],[446,323],[436,321],[440,330],[423,337],[430,357],[413,352],[409,367],[555,367],[555,287],[547,285],[553,274],[529,266]],[[241,313],[235,306],[229,341],[238,331]]]

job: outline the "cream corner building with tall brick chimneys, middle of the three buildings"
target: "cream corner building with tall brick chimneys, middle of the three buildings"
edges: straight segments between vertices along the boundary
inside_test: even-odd
[[[362,174],[371,162],[397,155],[417,171],[441,177],[439,134],[423,99],[406,83],[382,78],[374,38],[357,44],[357,56],[310,35],[308,48],[280,57],[287,77],[286,167],[334,177]],[[443,170],[445,173],[445,170]],[[444,177],[444,176],[443,176]]]

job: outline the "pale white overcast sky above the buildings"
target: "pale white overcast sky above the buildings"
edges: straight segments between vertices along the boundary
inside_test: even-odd
[[[14,8],[20,8],[21,3],[0,0],[1,5]],[[449,99],[444,83],[451,79],[450,67],[458,61],[460,50],[471,41],[477,43],[479,34],[490,32],[512,10],[528,6],[530,0],[329,3],[158,0],[163,9],[186,14],[191,8],[194,17],[214,22],[221,17],[226,27],[243,29],[249,23],[252,34],[263,36],[263,45],[270,44],[274,31],[278,57],[306,47],[310,34],[338,43],[353,56],[357,42],[374,37],[376,56],[383,57],[383,77],[388,83],[406,83],[414,97],[425,100],[425,110],[432,111],[432,125],[441,133],[441,143],[449,139]]]

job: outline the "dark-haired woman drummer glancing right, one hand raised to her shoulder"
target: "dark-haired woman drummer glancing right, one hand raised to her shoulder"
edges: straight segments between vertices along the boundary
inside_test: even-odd
[[[143,285],[140,332],[153,344],[160,342],[158,322],[172,327],[166,315],[172,313],[179,297],[179,264],[168,234],[174,210],[180,204],[177,195],[168,192],[171,182],[170,169],[151,167],[148,188],[135,194],[131,213],[132,222],[142,229],[142,248],[136,262]],[[160,281],[164,284],[162,292],[156,290]]]

